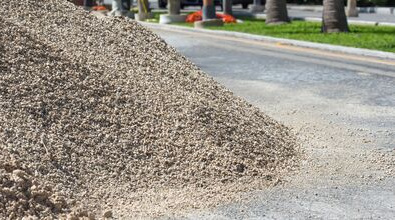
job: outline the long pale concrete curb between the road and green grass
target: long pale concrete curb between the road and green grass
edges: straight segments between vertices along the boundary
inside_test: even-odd
[[[292,45],[292,46],[297,46],[297,47],[312,48],[312,49],[331,51],[331,52],[340,52],[340,53],[352,54],[352,55],[358,55],[358,56],[367,56],[367,57],[375,57],[375,58],[380,58],[380,59],[395,60],[395,53],[383,52],[383,51],[377,51],[377,50],[360,49],[360,48],[354,48],[354,47],[345,47],[345,46],[337,46],[337,45],[330,45],[330,44],[313,43],[313,42],[300,41],[300,40],[290,40],[290,39],[283,39],[283,38],[267,37],[267,36],[239,33],[239,32],[233,32],[233,31],[195,29],[195,28],[182,27],[182,26],[177,26],[177,25],[163,25],[163,24],[148,23],[148,22],[139,22],[139,23],[141,23],[142,25],[144,25],[148,28],[152,28],[152,29],[159,29],[159,30],[166,30],[166,31],[178,30],[178,31],[185,31],[185,32],[214,34],[214,35],[241,38],[241,39],[247,39],[247,40],[263,41],[263,42],[269,42],[269,43],[280,43],[280,44]]]

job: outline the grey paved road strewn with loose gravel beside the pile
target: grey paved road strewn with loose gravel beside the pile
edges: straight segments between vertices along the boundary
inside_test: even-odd
[[[280,186],[251,192],[247,202],[186,213],[186,219],[395,217],[394,61],[155,32],[236,95],[293,128],[305,155]]]

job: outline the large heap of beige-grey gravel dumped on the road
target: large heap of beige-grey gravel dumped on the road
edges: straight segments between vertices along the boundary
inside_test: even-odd
[[[230,192],[294,167],[288,128],[141,25],[64,0],[0,13],[0,218],[111,216],[148,191]]]

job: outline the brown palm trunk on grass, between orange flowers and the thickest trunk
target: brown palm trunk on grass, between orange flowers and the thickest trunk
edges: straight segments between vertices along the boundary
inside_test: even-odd
[[[289,21],[286,0],[266,1],[266,24],[282,24]]]

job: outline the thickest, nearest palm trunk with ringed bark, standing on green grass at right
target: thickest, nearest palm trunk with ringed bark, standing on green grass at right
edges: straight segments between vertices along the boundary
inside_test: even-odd
[[[348,32],[344,0],[324,0],[322,13],[322,32]]]

